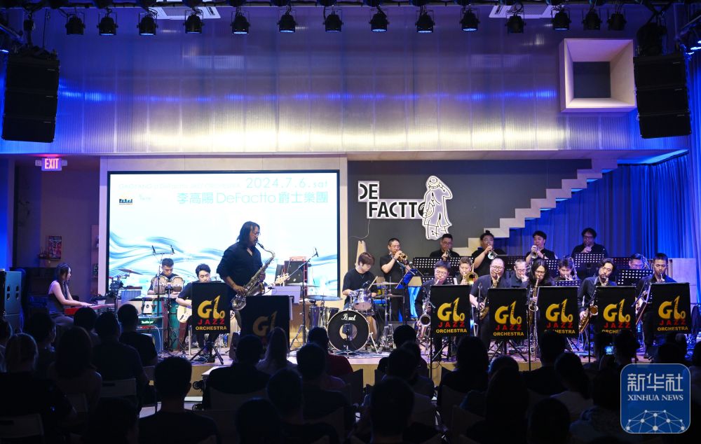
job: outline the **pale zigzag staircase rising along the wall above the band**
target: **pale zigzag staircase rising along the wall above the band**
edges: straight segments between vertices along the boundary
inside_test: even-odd
[[[578,169],[576,179],[562,179],[560,188],[547,188],[544,199],[531,199],[531,207],[517,208],[515,217],[500,218],[499,226],[495,228],[485,228],[489,230],[495,238],[509,237],[511,228],[524,228],[526,220],[540,217],[543,209],[553,209],[557,202],[572,197],[572,193],[587,188],[587,183],[601,179],[601,176],[618,167],[618,160],[615,158],[592,159],[592,167]],[[468,251],[475,251],[480,247],[479,237],[468,238]]]

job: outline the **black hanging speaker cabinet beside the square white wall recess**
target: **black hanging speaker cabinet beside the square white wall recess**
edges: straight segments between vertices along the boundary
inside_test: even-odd
[[[691,134],[683,54],[634,57],[633,66],[641,137]]]

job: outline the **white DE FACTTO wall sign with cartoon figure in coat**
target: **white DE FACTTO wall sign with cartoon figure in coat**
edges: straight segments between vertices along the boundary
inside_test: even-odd
[[[421,219],[426,239],[438,240],[452,225],[447,200],[453,192],[437,176],[426,179],[423,199],[381,199],[379,181],[358,181],[358,202],[365,202],[369,219]]]

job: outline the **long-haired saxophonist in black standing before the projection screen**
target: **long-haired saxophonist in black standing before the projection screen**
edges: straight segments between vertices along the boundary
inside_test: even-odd
[[[222,261],[217,266],[217,275],[231,288],[230,296],[233,296],[233,293],[244,295],[245,285],[263,267],[261,252],[256,248],[260,230],[257,223],[245,222],[239,230],[236,244],[227,248],[222,255]]]

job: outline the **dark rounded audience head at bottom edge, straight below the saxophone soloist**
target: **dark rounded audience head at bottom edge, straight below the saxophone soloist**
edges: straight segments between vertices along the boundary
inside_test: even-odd
[[[278,412],[270,401],[261,398],[246,401],[236,412],[238,444],[282,443],[281,425]]]

